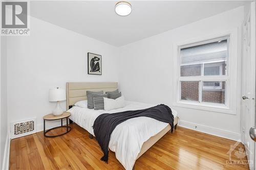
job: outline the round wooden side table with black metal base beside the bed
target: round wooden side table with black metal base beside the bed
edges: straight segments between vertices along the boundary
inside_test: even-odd
[[[69,116],[71,115],[70,112],[64,112],[63,114],[59,115],[59,116],[54,116],[53,114],[47,114],[44,116],[44,136],[46,137],[56,137],[56,136],[61,136],[61,135],[64,135],[68,132],[71,131],[71,127],[69,126],[68,124],[68,118]],[[67,125],[66,126],[63,126],[62,124],[62,119],[63,118],[66,118],[67,119]],[[59,120],[61,119],[61,126],[58,126],[58,127],[55,127],[55,128],[51,128],[51,129],[48,129],[46,130],[46,120]],[[62,128],[62,127],[66,127],[67,128],[67,131],[64,132],[64,133],[61,133],[61,134],[58,134],[58,135],[47,135],[46,133],[53,130],[53,129],[57,129],[57,128]]]

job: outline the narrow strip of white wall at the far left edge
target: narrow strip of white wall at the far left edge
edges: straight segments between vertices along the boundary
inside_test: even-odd
[[[6,165],[6,147],[8,147],[8,124],[7,124],[7,72],[6,72],[6,37],[1,37],[1,110],[0,110],[0,169],[5,168]],[[9,163],[9,162],[8,162]]]

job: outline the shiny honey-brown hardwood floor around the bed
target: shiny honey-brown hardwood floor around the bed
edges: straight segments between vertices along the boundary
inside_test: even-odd
[[[90,139],[88,132],[76,124],[71,127],[71,132],[55,138],[38,132],[12,139],[10,169],[124,169],[113,152],[108,164],[100,161],[102,152],[95,138]],[[246,164],[227,166],[227,152],[234,143],[236,141],[178,127],[144,153],[136,161],[135,169],[248,169]],[[232,160],[240,160],[236,155],[243,156],[243,152],[238,152],[240,147],[244,149],[239,143],[231,153]]]

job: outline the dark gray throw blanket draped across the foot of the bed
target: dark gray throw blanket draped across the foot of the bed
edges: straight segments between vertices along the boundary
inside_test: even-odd
[[[104,154],[104,156],[101,158],[102,161],[108,163],[110,136],[116,126],[127,119],[141,116],[151,117],[161,122],[168,123],[172,127],[171,131],[173,132],[174,116],[172,110],[163,104],[142,110],[101,114],[94,121],[93,131],[95,138],[98,141]]]

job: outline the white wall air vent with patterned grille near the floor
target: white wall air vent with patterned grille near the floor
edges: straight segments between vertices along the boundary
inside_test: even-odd
[[[12,123],[12,139],[36,133],[36,119]]]

